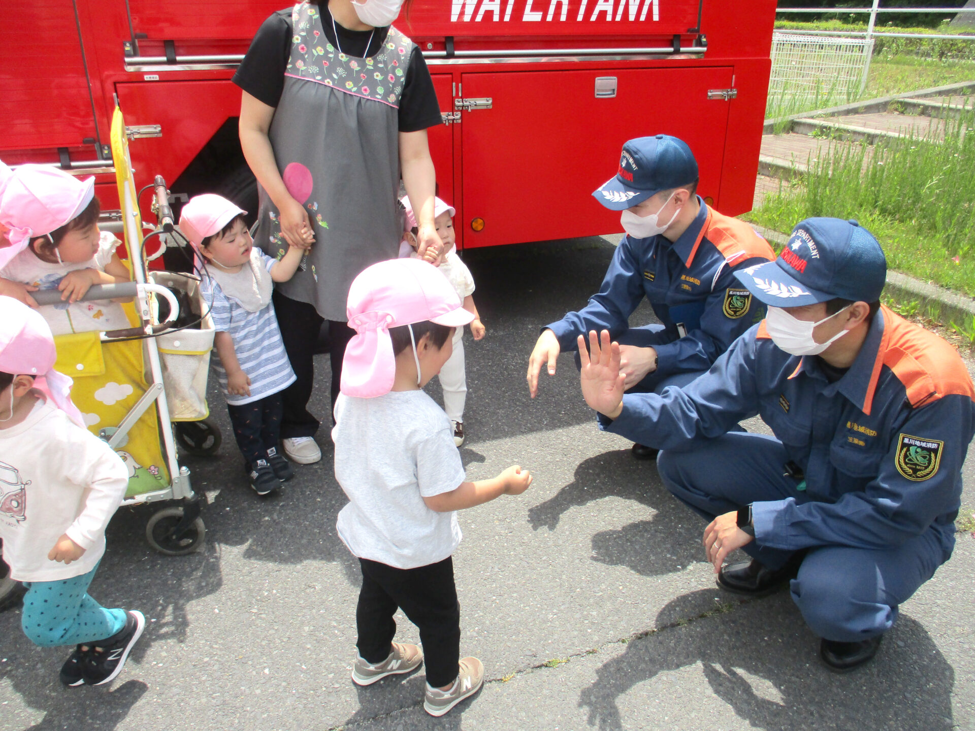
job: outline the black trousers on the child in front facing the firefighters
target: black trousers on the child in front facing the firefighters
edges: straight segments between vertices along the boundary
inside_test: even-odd
[[[394,568],[360,558],[363,588],[356,608],[362,658],[377,665],[389,657],[396,636],[396,608],[420,631],[427,682],[452,683],[460,672],[460,604],[453,584],[453,559],[418,568]]]

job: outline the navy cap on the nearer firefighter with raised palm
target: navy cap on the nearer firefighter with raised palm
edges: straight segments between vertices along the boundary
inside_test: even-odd
[[[734,276],[772,307],[802,307],[840,297],[874,302],[887,278],[877,239],[854,220],[806,218],[775,261]]]

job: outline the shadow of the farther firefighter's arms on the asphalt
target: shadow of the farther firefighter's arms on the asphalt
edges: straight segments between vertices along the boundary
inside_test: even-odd
[[[528,522],[535,530],[555,530],[567,511],[610,496],[635,500],[656,515],[594,535],[594,560],[628,566],[643,576],[659,576],[704,558],[700,547],[704,523],[663,486],[654,463],[634,459],[629,449],[581,462],[573,481],[528,509]]]

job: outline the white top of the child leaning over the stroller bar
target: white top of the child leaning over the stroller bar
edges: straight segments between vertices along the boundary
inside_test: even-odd
[[[11,282],[33,285],[38,289],[58,289],[60,281],[68,272],[78,269],[105,271],[105,267],[112,260],[115,248],[120,243],[111,233],[102,231],[98,239],[98,252],[88,261],[78,261],[71,264],[52,264],[43,261],[33,251],[24,249],[0,270],[0,277],[9,279]],[[132,327],[122,305],[108,299],[75,302],[71,305],[67,302],[44,305],[38,308],[38,312],[44,316],[44,320],[47,321],[48,326],[51,327],[51,332],[55,335]]]

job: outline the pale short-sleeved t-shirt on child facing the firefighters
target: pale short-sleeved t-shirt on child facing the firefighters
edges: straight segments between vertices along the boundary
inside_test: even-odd
[[[335,401],[335,479],[349,498],[338,537],[358,558],[396,568],[442,561],[460,543],[456,513],[430,510],[424,497],[466,480],[444,409],[423,391]]]

